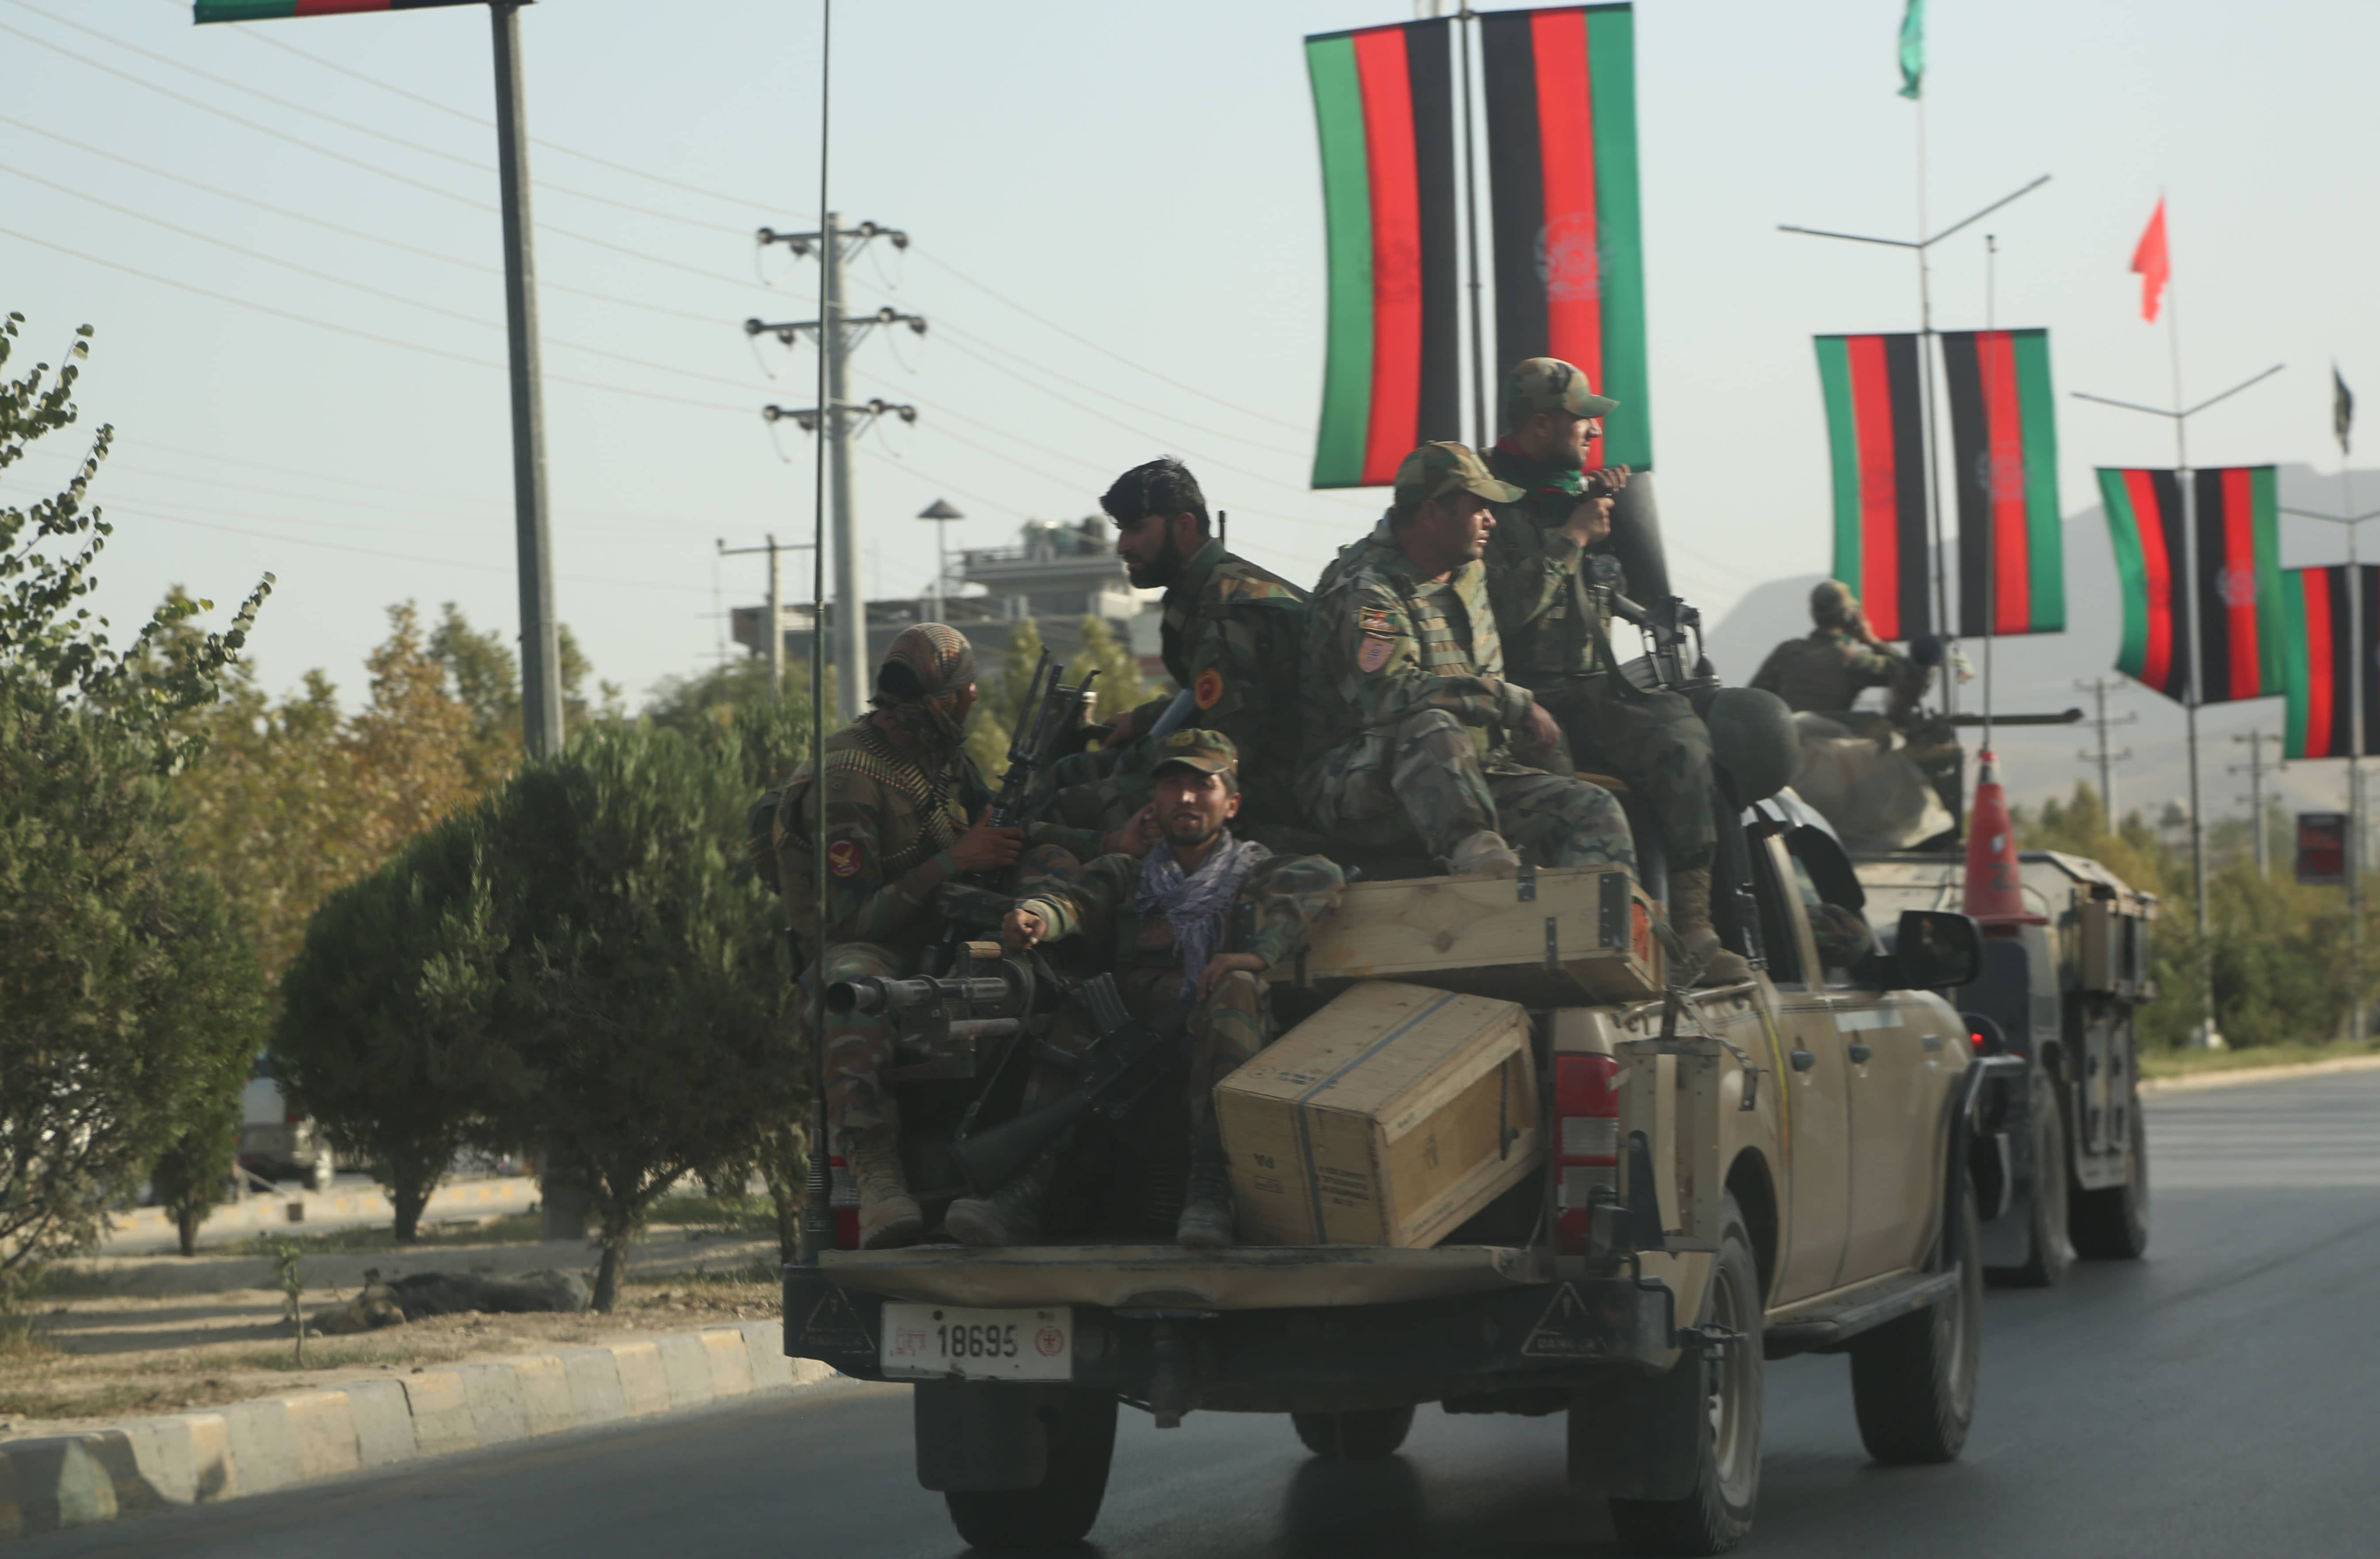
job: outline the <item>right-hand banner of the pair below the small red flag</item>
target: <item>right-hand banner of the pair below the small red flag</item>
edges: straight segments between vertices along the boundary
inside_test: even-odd
[[[2280,495],[2273,467],[2192,471],[2202,705],[2282,690]]]

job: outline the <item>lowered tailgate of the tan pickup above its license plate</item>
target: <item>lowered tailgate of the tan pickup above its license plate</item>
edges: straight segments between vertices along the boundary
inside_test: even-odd
[[[1021,1245],[831,1250],[819,1276],[888,1300],[935,1304],[1102,1304],[1107,1309],[1314,1309],[1445,1300],[1549,1283],[1552,1261],[1516,1245]]]

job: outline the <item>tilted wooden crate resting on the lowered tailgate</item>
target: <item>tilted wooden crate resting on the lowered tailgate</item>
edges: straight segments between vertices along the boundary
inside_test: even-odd
[[[1438,1245],[1545,1159],[1528,1009],[1426,985],[1349,988],[1214,1102],[1254,1245]]]

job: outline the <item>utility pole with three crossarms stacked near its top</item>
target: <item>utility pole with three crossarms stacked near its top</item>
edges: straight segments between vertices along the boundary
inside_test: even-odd
[[[852,405],[850,357],[859,338],[876,326],[904,324],[919,336],[926,333],[926,319],[921,314],[902,314],[897,309],[876,309],[873,314],[852,319],[843,290],[845,262],[850,262],[850,257],[864,250],[873,238],[888,238],[895,250],[909,248],[909,233],[876,226],[873,221],[862,221],[859,226],[847,228],[843,226],[840,212],[828,212],[826,226],[816,233],[778,233],[776,228],[759,228],[757,240],[762,245],[783,243],[795,255],[809,255],[812,250],[819,252],[819,267],[823,269],[823,286],[819,288],[821,305],[819,319],[797,319],[788,324],[745,319],[745,336],[776,336],[785,345],[793,345],[800,336],[812,336],[826,355],[823,407],[807,407],[800,412],[764,407],[762,417],[769,421],[790,417],[804,433],[819,431],[821,419],[826,424],[828,495],[833,509],[831,528],[835,538],[835,705],[845,716],[857,714],[866,705],[869,688],[869,602],[859,590],[859,538],[852,521],[852,440],[885,412],[895,412],[902,421],[916,421],[916,407],[895,407],[883,400]],[[819,624],[812,624],[812,633],[819,628]]]

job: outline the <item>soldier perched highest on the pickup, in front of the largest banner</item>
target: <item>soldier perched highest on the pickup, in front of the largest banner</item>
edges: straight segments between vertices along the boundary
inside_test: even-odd
[[[1683,695],[1647,693],[1604,664],[1611,590],[1628,588],[1604,550],[1609,493],[1628,483],[1628,467],[1587,471],[1585,457],[1616,407],[1559,357],[1530,357],[1507,376],[1504,438],[1488,469],[1521,497],[1495,505],[1488,600],[1504,674],[1561,726],[1568,762],[1616,774],[1645,800],[1668,847],[1671,926],[1702,962],[1702,983],[1723,985],[1752,978],[1752,966],[1711,928],[1711,733]]]

